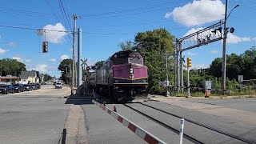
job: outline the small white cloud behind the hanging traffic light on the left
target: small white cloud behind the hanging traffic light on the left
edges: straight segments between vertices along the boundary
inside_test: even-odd
[[[55,26],[53,25],[46,25],[43,27],[46,29],[46,40],[48,42],[53,43],[62,43],[64,42],[64,37],[67,35],[65,32],[58,32],[58,31],[49,31],[49,30],[66,30],[62,23],[57,23]]]

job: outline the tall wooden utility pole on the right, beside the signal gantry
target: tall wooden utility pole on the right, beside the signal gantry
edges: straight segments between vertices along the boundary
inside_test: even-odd
[[[228,0],[226,0],[225,8],[225,20],[224,20],[224,35],[223,35],[223,50],[222,50],[222,90],[226,90],[226,35],[227,35],[227,9],[228,9]],[[222,91],[222,94],[223,91]]]

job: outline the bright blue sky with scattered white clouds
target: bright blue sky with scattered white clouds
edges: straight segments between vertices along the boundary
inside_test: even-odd
[[[256,2],[229,0],[229,12],[238,4],[227,21],[235,29],[227,37],[227,54],[242,54],[256,46]],[[2,0],[0,58],[14,58],[25,63],[27,70],[59,77],[59,63],[72,58],[73,36],[46,31],[49,53],[45,54],[45,37],[38,36],[37,30],[72,31],[73,14],[78,14],[77,28],[82,29],[82,58],[93,65],[121,50],[119,42],[134,41],[138,32],[166,28],[175,38],[182,38],[219,22],[224,11],[224,0]],[[222,41],[183,54],[192,58],[193,68],[206,68],[214,58],[222,57]]]

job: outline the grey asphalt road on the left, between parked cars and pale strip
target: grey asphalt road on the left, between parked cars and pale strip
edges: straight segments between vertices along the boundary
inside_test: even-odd
[[[70,90],[53,88],[0,94],[0,143],[58,143],[70,108],[62,97]]]

